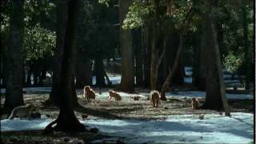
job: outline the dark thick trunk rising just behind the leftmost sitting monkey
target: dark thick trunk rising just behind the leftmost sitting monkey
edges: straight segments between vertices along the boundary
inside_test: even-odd
[[[92,85],[92,62],[85,54],[79,54],[77,58],[76,68],[76,87],[83,88],[84,86]]]

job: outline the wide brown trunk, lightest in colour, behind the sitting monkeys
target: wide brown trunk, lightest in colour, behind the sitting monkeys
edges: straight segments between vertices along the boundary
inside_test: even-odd
[[[118,90],[134,92],[134,52],[131,30],[122,29],[131,0],[119,0],[120,50],[122,56],[122,78]]]

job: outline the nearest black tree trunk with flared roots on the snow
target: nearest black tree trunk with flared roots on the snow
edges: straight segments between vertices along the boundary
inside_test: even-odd
[[[72,86],[74,86],[73,77],[75,72],[74,64],[76,54],[77,5],[77,0],[68,1],[68,20],[66,24],[66,35],[59,85],[62,90],[58,90],[58,106],[60,107],[60,112],[58,114],[58,118],[46,126],[46,132],[49,132],[52,129],[62,131],[85,130],[85,126],[83,126],[78,121],[78,118],[76,118],[71,102],[74,94],[74,88],[72,88]],[[54,123],[56,123],[56,126],[52,127]]]

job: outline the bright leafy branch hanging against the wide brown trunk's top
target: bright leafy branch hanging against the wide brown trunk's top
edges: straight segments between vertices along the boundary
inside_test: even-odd
[[[136,29],[142,26],[146,18],[150,18],[150,14],[153,14],[154,6],[150,3],[142,1],[134,1],[129,7],[129,12],[126,15],[126,19],[123,22],[123,29]]]

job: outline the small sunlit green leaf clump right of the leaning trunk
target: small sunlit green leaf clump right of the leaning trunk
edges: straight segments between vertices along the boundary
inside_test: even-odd
[[[244,59],[244,54],[233,54],[229,53],[224,58],[224,66],[227,71],[229,71],[231,74],[235,74],[238,72],[238,69],[242,66],[242,62]]]

